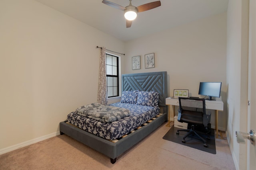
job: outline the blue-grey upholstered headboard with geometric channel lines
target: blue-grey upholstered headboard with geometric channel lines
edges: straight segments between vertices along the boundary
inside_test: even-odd
[[[159,93],[159,106],[166,107],[167,72],[122,74],[122,92],[129,90],[155,91]]]

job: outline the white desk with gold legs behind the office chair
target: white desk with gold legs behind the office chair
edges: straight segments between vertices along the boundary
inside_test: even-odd
[[[170,121],[174,121],[174,106],[179,106],[179,100],[168,97],[165,99],[166,105],[168,105],[168,127],[170,127]],[[191,104],[193,105],[193,104]],[[172,116],[170,113],[170,106],[172,106]],[[216,138],[218,138],[218,112],[223,111],[223,102],[222,100],[205,100],[206,109],[216,110]],[[222,137],[222,133],[220,132],[220,137]]]

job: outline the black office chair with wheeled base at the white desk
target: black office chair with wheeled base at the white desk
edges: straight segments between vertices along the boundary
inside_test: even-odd
[[[206,144],[206,140],[202,138],[196,131],[202,127],[202,131],[206,134],[210,134],[210,120],[211,120],[211,112],[209,111],[206,114],[205,108],[205,99],[201,98],[179,98],[180,107],[178,109],[178,121],[188,123],[188,127],[191,126],[190,129],[179,129],[176,134],[179,135],[179,131],[186,131],[186,135],[183,137],[182,142],[185,143],[185,138],[189,135],[198,136],[203,142],[204,147],[208,147]],[[210,139],[209,136],[206,139]]]

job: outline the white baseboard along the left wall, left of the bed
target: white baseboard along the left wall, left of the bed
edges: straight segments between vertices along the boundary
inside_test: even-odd
[[[54,133],[51,133],[51,134],[48,134],[48,135],[45,135],[45,136],[42,136],[42,137],[38,137],[36,139],[32,139],[32,140],[29,140],[29,141],[26,141],[26,142],[22,142],[22,143],[19,143],[19,144],[16,144],[16,145],[12,145],[10,147],[0,149],[0,154],[4,154],[4,153],[10,152],[12,150],[20,149],[22,147],[26,147],[28,145],[31,145],[31,144],[34,144],[34,143],[37,143],[37,142],[40,142],[40,141],[44,141],[46,139],[49,139],[51,137],[55,137],[55,136],[58,136],[58,135],[60,135],[60,131],[54,132]]]

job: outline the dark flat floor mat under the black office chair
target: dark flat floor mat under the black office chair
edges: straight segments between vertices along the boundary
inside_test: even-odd
[[[185,141],[186,143],[182,143],[182,138],[183,136],[187,133],[184,131],[180,131],[180,134],[177,135],[177,129],[180,128],[176,128],[176,127],[172,127],[163,137],[163,139],[168,140],[168,141],[172,141],[175,143],[178,143],[180,145],[185,145],[187,147],[191,147],[194,149],[198,149],[198,150],[202,150],[204,152],[208,152],[211,154],[216,154],[216,147],[215,147],[215,137],[214,137],[214,129],[212,129],[212,133],[210,135],[210,139],[206,139],[206,135],[202,135],[200,134],[204,139],[206,139],[206,143],[208,145],[208,147],[204,147],[204,143],[203,141],[201,141],[196,135],[192,136],[188,136],[186,137]]]

